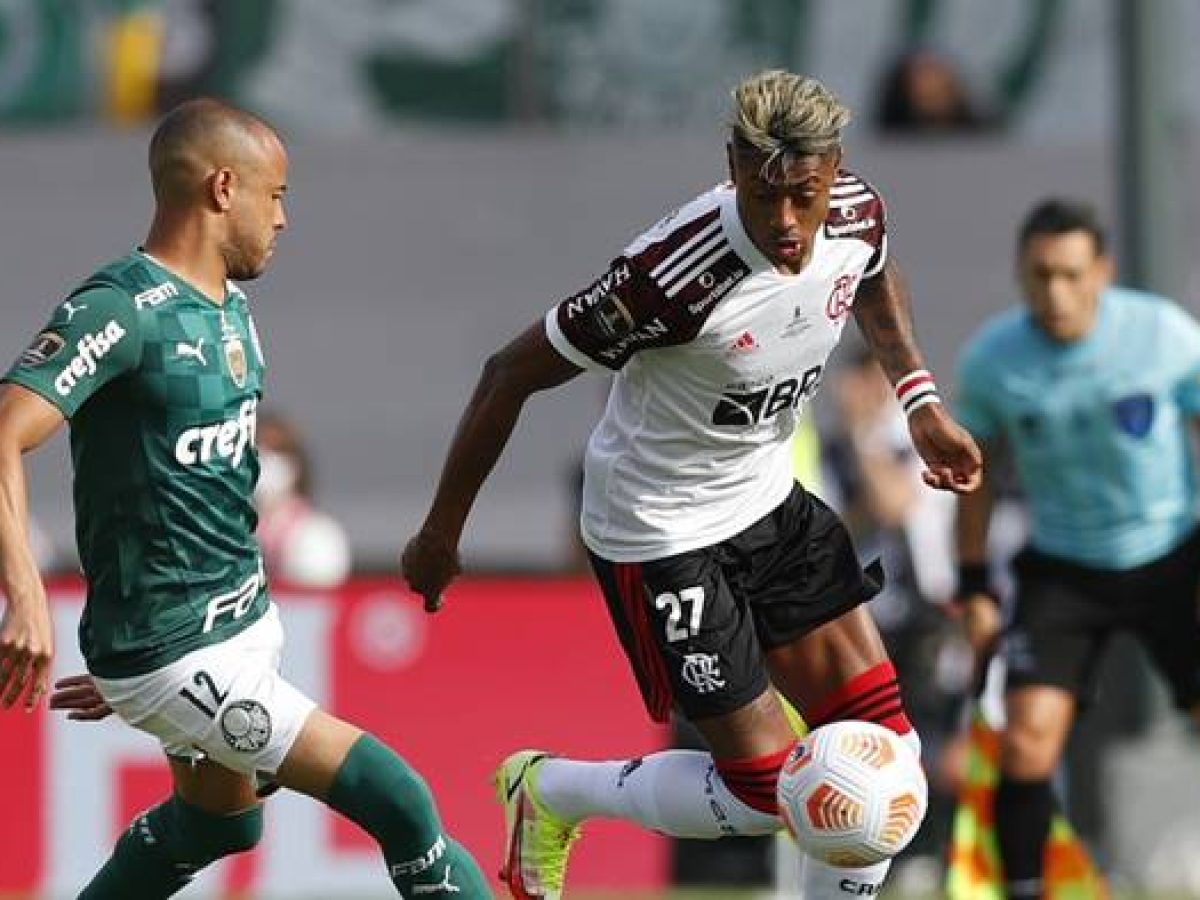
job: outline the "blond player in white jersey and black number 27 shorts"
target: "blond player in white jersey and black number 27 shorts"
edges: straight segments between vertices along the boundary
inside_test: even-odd
[[[794,736],[776,690],[812,725],[874,720],[919,746],[862,606],[877,572],[796,485],[790,438],[853,314],[910,414],[925,480],[973,490],[979,451],[925,371],[883,202],[841,168],[848,110],[782,71],[733,100],[731,182],[652,227],[487,361],[404,550],[404,576],[436,608],[524,401],[583,370],[616,372],[588,444],[582,535],[650,715],[678,710],[710,752],[515,754],[497,788],[516,896],[562,895],[570,844],[593,816],[686,838],[778,830]],[[886,870],[812,862],[805,888],[874,894]]]

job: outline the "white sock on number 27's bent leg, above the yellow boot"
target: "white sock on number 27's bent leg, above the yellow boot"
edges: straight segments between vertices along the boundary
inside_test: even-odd
[[[713,757],[698,750],[616,762],[552,757],[538,769],[538,797],[571,822],[624,818],[672,838],[773,834],[782,828],[778,816],[730,793]]]

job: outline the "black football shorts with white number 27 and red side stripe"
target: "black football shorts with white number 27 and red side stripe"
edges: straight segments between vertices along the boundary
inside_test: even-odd
[[[654,721],[731,713],[767,689],[763,650],[870,600],[846,527],[798,485],[720,544],[642,563],[592,556],[617,635]]]

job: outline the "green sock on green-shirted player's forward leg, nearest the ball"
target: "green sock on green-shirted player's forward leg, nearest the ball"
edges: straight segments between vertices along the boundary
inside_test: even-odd
[[[328,803],[379,842],[403,896],[492,896],[470,853],[442,830],[425,780],[371,734],[359,738],[346,755]]]

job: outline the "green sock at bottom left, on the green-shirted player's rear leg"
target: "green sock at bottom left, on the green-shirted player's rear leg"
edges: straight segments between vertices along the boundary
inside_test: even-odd
[[[173,796],[133,820],[79,900],[173,896],[205,865],[250,850],[262,834],[262,806],[220,816]]]

